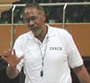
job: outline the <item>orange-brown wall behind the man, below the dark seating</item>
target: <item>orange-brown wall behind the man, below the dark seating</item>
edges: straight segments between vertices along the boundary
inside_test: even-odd
[[[50,24],[61,28],[62,24]],[[14,25],[14,39],[20,34],[28,31],[25,24]],[[66,24],[65,29],[68,30],[81,53],[82,56],[90,56],[90,23],[73,23]],[[0,25],[0,52],[10,48],[11,44],[11,25]]]

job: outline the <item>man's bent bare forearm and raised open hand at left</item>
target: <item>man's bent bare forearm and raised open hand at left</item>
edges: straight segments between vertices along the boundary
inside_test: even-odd
[[[20,62],[23,57],[18,58],[14,50],[5,51],[1,57],[9,64],[6,69],[6,74],[9,78],[16,78],[19,71],[16,69],[16,65]]]

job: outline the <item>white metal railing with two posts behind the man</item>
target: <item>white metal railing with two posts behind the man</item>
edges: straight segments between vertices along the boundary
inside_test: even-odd
[[[68,5],[90,5],[90,2],[78,2],[78,3],[40,3],[39,5],[41,6],[63,6],[63,25],[62,27],[65,27],[65,11],[66,7]],[[23,7],[25,4],[0,4],[0,7],[7,7],[11,6],[12,7],[12,22],[11,22],[11,47],[13,47],[14,44],[14,10],[15,7]]]

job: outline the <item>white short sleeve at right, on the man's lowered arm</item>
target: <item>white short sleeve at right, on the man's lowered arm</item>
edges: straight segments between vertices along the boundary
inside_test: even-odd
[[[67,31],[66,33],[66,52],[67,52],[67,57],[68,57],[68,63],[71,68],[78,67],[83,64],[83,59],[80,55],[80,52],[71,36],[70,33]]]

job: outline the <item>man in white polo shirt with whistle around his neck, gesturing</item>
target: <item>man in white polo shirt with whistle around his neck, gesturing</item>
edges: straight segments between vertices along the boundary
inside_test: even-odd
[[[90,77],[71,35],[45,24],[45,12],[37,4],[27,4],[23,18],[30,31],[19,36],[13,50],[2,58],[9,63],[6,73],[13,79],[24,68],[25,83],[72,83],[70,67],[81,83]]]

